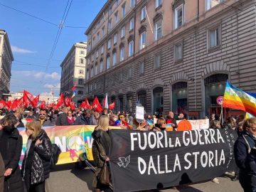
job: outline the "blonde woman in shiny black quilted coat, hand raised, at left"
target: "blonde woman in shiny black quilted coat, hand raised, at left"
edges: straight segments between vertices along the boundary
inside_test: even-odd
[[[22,176],[27,191],[46,191],[46,178],[50,175],[51,142],[38,121],[26,124],[28,142],[22,163]]]

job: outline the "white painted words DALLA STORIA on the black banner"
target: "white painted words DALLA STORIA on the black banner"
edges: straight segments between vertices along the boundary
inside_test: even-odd
[[[161,160],[161,158],[164,159]],[[225,154],[223,149],[221,149],[220,152],[218,150],[202,152],[195,151],[193,153],[188,152],[183,156],[185,164],[182,165],[182,161],[180,161],[180,159],[181,155],[179,156],[178,154],[175,154],[175,159],[174,157],[167,154],[165,154],[164,156],[157,155],[156,157],[149,156],[149,161],[145,161],[144,159],[142,159],[142,157],[138,157],[139,173],[142,175],[146,173],[148,175],[169,174],[175,171],[181,171],[182,169],[191,169],[192,166],[193,169],[198,169],[198,162],[199,166],[203,168],[221,166],[225,164]]]

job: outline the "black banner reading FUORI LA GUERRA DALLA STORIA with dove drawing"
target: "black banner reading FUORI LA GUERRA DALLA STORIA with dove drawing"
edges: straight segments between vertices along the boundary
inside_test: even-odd
[[[230,129],[185,132],[110,131],[114,191],[141,191],[206,181],[235,170]]]

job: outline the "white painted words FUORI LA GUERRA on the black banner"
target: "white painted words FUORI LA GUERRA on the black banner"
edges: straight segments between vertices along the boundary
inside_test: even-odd
[[[139,149],[145,150],[146,147],[150,149],[178,147],[182,146],[181,142],[183,142],[183,146],[225,143],[218,129],[183,131],[181,141],[179,137],[168,137],[166,132],[164,134],[163,132],[134,132],[130,133],[130,137],[132,151],[134,151],[134,146],[139,146]]]

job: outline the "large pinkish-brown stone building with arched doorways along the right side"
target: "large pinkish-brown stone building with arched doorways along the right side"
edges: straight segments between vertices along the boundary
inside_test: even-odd
[[[255,18],[252,0],[107,1],[85,32],[86,95],[107,92],[121,111],[220,113],[226,80],[256,92]]]

